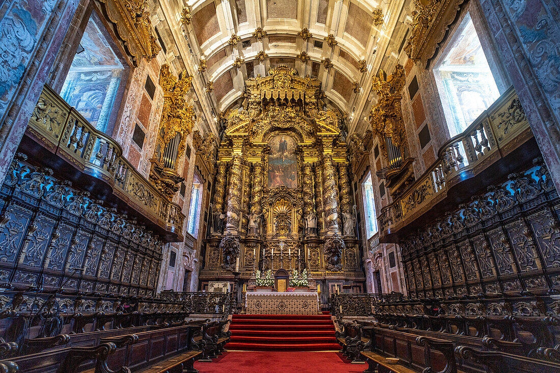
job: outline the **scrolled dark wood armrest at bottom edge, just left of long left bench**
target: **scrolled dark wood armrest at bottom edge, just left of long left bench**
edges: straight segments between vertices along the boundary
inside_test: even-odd
[[[66,359],[62,363],[62,372],[77,373],[80,365],[88,360],[95,360],[96,373],[130,373],[128,367],[122,366],[117,370],[111,370],[107,366],[107,358],[116,351],[114,343],[101,343],[95,347],[72,347]]]

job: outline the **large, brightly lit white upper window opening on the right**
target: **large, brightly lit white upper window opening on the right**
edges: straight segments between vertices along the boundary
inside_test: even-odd
[[[463,132],[500,97],[469,13],[433,73],[451,137]]]

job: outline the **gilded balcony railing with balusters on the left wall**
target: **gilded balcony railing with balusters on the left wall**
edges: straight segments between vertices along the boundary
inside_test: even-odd
[[[95,129],[49,86],[44,86],[26,132],[76,169],[109,184],[115,197],[171,232],[175,240],[183,239],[180,206],[169,202],[123,157],[114,139]]]

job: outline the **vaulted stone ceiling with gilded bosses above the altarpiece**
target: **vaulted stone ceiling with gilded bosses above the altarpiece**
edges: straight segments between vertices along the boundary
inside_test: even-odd
[[[371,76],[386,59],[395,26],[402,24],[403,2],[169,0],[160,5],[177,53],[199,77],[197,95],[206,96],[214,114],[240,104],[248,78],[284,64],[320,80],[326,102],[348,114],[353,130],[371,108]],[[181,21],[184,8],[192,17],[188,22]],[[204,71],[200,60],[206,60]],[[212,91],[206,90],[208,82]]]

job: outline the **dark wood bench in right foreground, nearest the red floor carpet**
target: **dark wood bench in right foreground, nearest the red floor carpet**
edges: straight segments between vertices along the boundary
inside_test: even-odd
[[[413,373],[429,368],[433,373],[458,373],[454,346],[443,339],[418,337],[396,330],[368,327],[371,335],[369,351],[361,351],[368,368],[364,373]],[[396,357],[398,364],[390,364],[387,357]]]

